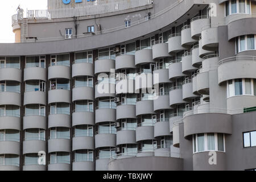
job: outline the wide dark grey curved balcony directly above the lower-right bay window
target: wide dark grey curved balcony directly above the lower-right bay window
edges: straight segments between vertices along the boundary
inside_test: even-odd
[[[199,109],[200,111],[200,109]],[[212,111],[211,111],[212,112]],[[199,133],[232,134],[232,115],[204,113],[184,116],[184,137]]]

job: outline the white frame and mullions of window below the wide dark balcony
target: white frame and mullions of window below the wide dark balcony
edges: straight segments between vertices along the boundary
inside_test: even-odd
[[[192,137],[193,138],[192,139],[193,154],[200,153],[200,152],[208,152],[208,151],[226,152],[225,134],[223,134],[223,151],[218,150],[218,133],[214,133],[214,150],[208,150],[208,136],[207,136],[207,133],[204,133],[204,150],[203,151],[198,151],[197,134],[194,134],[194,135],[196,135],[196,141],[194,137]],[[195,146],[196,146],[196,150],[195,150]]]

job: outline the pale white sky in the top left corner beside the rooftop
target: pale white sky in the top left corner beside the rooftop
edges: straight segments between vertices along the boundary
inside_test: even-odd
[[[16,9],[24,10],[46,10],[47,0],[1,0],[0,5],[0,43],[14,43],[14,33],[11,27],[11,16],[16,14]]]

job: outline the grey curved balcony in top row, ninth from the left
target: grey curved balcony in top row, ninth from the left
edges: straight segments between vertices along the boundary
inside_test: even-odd
[[[170,54],[176,54],[177,52],[186,50],[181,46],[181,34],[171,34],[168,39],[168,51]]]

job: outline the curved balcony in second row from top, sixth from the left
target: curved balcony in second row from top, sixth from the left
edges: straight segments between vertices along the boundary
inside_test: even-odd
[[[135,78],[115,81],[115,94],[135,93]]]

